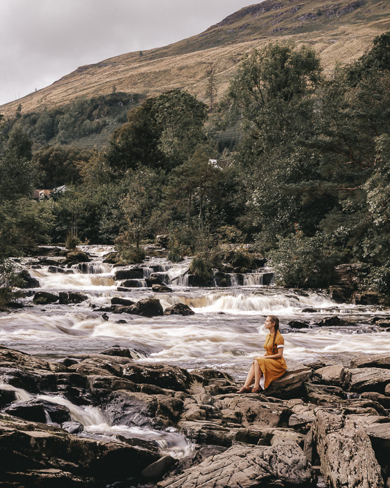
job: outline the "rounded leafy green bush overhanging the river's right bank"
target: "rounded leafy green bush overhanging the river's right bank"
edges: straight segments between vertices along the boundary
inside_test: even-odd
[[[282,238],[268,254],[276,284],[284,287],[327,287],[334,275],[335,257],[324,236],[301,234]]]

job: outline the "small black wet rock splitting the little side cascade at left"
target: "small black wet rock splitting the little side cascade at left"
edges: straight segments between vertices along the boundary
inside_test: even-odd
[[[65,406],[47,402],[47,400],[33,399],[29,402],[18,402],[4,409],[8,415],[33,420],[33,422],[47,422],[47,414],[52,422],[61,424],[70,421],[70,411]]]

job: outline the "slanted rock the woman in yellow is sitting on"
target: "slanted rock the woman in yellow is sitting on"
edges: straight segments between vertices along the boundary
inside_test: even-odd
[[[296,361],[289,360],[286,373],[281,378],[273,381],[267,388],[265,394],[276,398],[299,396],[303,390],[304,382],[310,379],[311,374],[311,369],[308,367]]]

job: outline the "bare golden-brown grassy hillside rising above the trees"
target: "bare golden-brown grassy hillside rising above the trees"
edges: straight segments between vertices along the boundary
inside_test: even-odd
[[[373,38],[387,30],[388,0],[266,0],[242,8],[198,36],[81,66],[51,86],[3,105],[0,112],[14,114],[20,103],[23,112],[30,112],[79,96],[107,95],[113,86],[141,96],[185,88],[207,102],[210,63],[220,96],[244,53],[270,40],[311,45],[320,53],[325,73],[330,73],[336,63],[364,54]]]

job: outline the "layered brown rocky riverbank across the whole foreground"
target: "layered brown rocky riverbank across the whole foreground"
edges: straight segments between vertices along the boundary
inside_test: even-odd
[[[387,483],[390,356],[356,356],[348,367],[290,362],[263,395],[238,395],[217,369],[137,356],[118,347],[47,361],[0,348],[1,485],[315,487],[318,475],[329,487]]]

